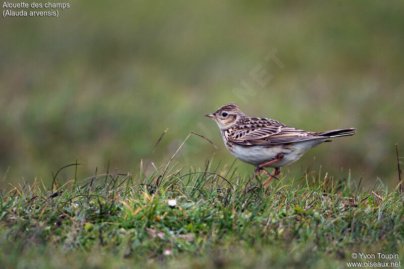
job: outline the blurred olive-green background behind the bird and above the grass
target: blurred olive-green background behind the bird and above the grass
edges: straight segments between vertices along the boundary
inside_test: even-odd
[[[2,188],[22,178],[48,184],[76,159],[86,164],[81,178],[108,160],[121,173],[138,169],[166,128],[157,167],[190,131],[219,149],[191,137],[175,159],[181,166],[204,167],[213,154],[231,165],[216,123],[203,116],[227,102],[310,131],[358,128],[306,153],[286,170],[292,176],[316,156],[323,174],[339,177],[342,165],[345,176],[364,173],[365,184],[397,184],[404,2],[68,3],[59,18],[0,19],[0,179],[10,167]]]

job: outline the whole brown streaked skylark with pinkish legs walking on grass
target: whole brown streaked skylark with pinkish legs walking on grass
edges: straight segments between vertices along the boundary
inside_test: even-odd
[[[206,114],[219,125],[223,141],[236,158],[244,163],[257,166],[254,177],[264,171],[269,179],[278,176],[280,168],[296,162],[307,150],[328,138],[354,135],[355,128],[308,132],[288,127],[267,118],[249,118],[242,113],[236,103],[227,103],[212,114]],[[273,175],[264,167],[275,168]]]

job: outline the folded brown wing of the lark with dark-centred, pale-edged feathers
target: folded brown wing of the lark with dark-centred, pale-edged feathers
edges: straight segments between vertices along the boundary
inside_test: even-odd
[[[230,141],[239,145],[286,144],[324,138],[265,118],[250,118],[233,130]]]

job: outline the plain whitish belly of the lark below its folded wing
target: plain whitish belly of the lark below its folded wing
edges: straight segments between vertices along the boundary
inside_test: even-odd
[[[296,162],[307,150],[323,143],[326,138],[313,139],[307,141],[295,142],[293,144],[280,144],[272,146],[241,146],[233,145],[232,148],[227,147],[233,156],[244,163],[259,166],[276,159],[279,153],[283,154],[283,158],[278,162],[272,163],[267,167],[283,167]]]

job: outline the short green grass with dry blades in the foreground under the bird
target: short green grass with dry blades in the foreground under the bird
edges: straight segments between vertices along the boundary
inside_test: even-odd
[[[268,188],[249,180],[253,171],[220,162],[167,165],[149,177],[107,171],[79,180],[74,166],[65,170],[74,177],[56,177],[52,191],[36,182],[1,194],[5,267],[321,268],[360,261],[352,252],[404,255],[397,189],[379,181],[364,190],[342,170],[309,170]]]

